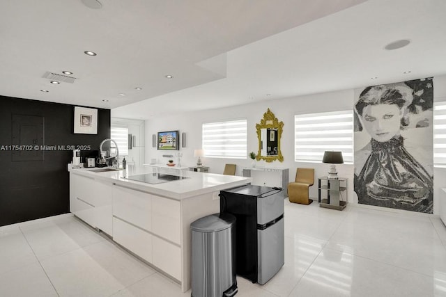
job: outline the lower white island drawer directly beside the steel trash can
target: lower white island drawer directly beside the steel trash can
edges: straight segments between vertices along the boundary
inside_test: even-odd
[[[153,236],[153,264],[162,271],[181,280],[181,249],[172,243]]]

